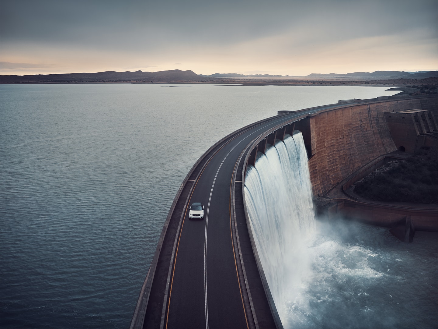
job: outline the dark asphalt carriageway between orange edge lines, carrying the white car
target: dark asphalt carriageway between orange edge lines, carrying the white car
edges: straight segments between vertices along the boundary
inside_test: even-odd
[[[245,147],[264,132],[304,113],[272,118],[242,132],[208,162],[188,205],[205,205],[203,220],[184,219],[175,251],[165,328],[247,328],[230,216],[234,168]],[[188,208],[188,207],[187,207]]]

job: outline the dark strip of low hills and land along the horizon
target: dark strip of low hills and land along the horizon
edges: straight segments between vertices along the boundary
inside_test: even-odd
[[[168,70],[158,72],[96,72],[96,73],[60,73],[36,75],[0,75],[0,84],[65,84],[65,83],[155,83],[187,84],[215,83],[242,86],[389,86],[436,84],[437,71],[409,72],[375,71],[355,72],[346,75],[331,73],[310,76],[242,76],[234,73],[222,76],[198,75],[191,70]],[[223,76],[228,75],[228,76]]]

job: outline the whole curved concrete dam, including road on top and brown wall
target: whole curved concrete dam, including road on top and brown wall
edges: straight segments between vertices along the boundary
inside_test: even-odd
[[[224,137],[180,186],[131,328],[283,327],[244,189],[246,173],[261,154],[276,143],[289,143],[296,131],[302,134],[309,193],[319,211],[360,214],[364,221],[385,226],[409,217],[417,229],[436,230],[436,209],[364,204],[341,192],[398,150],[436,147],[437,107],[437,98],[429,96],[340,101],[283,111]],[[187,207],[197,201],[206,205],[207,216],[189,221]]]

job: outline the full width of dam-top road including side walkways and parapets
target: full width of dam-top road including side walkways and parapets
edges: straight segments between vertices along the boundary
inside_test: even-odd
[[[318,110],[331,107],[339,104]],[[238,165],[249,144],[312,111],[244,127],[216,143],[194,165],[166,220],[132,328],[281,327],[273,301],[266,298],[244,211],[234,209],[233,189],[237,184],[241,190]],[[242,199],[238,193],[235,197]],[[192,202],[205,205],[203,220],[189,220]]]

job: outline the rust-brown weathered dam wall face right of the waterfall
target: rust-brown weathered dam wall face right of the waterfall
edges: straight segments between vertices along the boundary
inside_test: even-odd
[[[314,196],[323,196],[369,161],[397,150],[385,112],[414,108],[435,112],[437,98],[352,104],[309,117],[312,135],[309,170]]]

